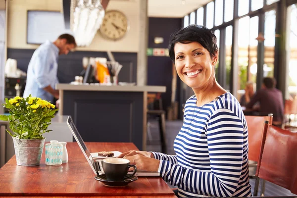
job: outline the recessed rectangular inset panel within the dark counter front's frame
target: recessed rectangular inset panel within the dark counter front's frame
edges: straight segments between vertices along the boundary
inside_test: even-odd
[[[132,111],[132,100],[75,100],[74,122],[86,142],[132,142]]]

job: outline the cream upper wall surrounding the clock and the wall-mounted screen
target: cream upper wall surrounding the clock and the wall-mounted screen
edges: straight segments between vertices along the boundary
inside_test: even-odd
[[[126,14],[130,22],[130,30],[126,36],[114,42],[102,38],[98,32],[89,47],[77,50],[138,52],[140,0],[110,0],[106,11],[111,9]],[[9,0],[7,48],[36,49],[38,47],[38,45],[26,43],[27,10],[61,11],[62,0]]]

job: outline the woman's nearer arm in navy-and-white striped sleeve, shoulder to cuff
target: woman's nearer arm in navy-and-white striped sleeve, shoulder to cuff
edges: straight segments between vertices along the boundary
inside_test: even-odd
[[[240,118],[229,109],[219,109],[207,125],[210,171],[196,171],[165,160],[160,160],[158,171],[165,181],[181,190],[232,197],[237,195],[240,178],[247,175],[248,180],[246,142],[247,132],[244,133]],[[242,188],[249,188],[248,183]]]

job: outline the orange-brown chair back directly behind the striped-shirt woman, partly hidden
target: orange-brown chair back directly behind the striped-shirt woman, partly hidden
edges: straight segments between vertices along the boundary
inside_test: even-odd
[[[272,114],[268,116],[251,116],[246,115],[247,130],[248,130],[248,160],[258,161],[261,140],[263,133],[263,123],[265,120],[272,123]]]

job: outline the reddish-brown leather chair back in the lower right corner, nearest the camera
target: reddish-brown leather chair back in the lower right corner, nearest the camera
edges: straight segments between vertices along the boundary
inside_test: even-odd
[[[256,176],[297,194],[297,133],[266,121]]]

